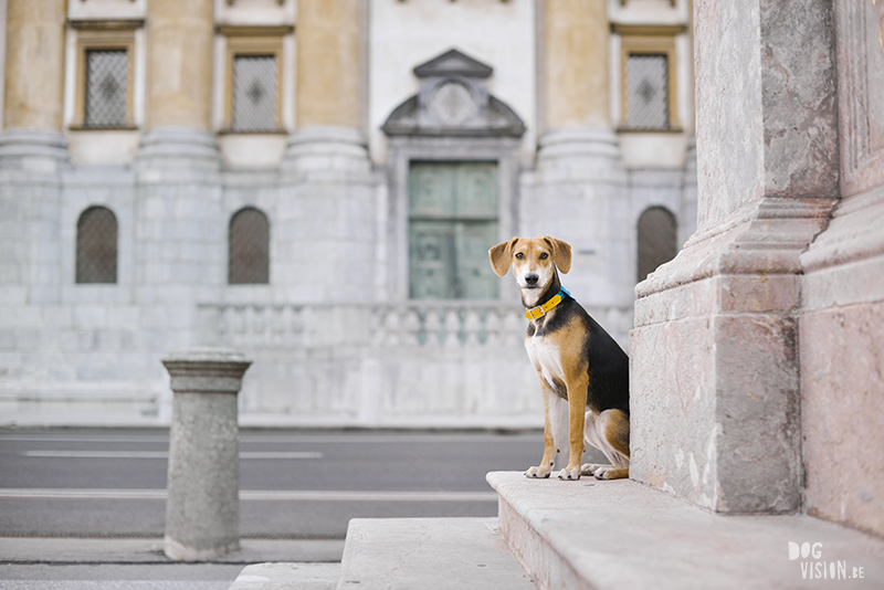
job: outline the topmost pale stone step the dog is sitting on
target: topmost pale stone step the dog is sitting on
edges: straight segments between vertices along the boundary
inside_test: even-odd
[[[884,588],[884,539],[810,516],[714,515],[629,480],[487,481],[541,589]]]

